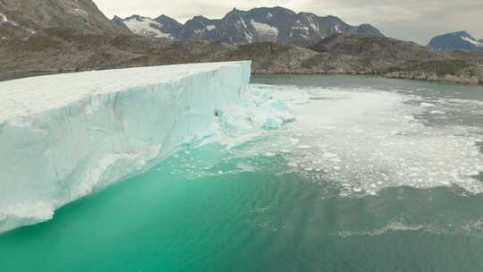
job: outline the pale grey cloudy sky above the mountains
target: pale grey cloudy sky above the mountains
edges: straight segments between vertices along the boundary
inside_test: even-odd
[[[435,35],[467,30],[483,38],[482,0],[94,0],[108,17],[160,14],[186,21],[194,15],[221,18],[236,7],[280,5],[295,12],[335,15],[350,24],[369,22],[386,36],[427,44]]]

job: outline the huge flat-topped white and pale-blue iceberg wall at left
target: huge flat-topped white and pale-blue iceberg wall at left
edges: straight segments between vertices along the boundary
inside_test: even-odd
[[[0,232],[213,136],[249,81],[250,62],[235,62],[0,82]]]

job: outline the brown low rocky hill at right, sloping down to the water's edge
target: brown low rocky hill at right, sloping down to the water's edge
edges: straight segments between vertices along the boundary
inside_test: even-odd
[[[483,55],[431,51],[394,38],[338,35],[310,48],[307,72],[377,74],[388,78],[482,84]]]

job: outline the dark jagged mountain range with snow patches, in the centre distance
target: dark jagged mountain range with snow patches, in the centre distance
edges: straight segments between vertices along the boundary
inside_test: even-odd
[[[161,17],[163,20],[159,20]],[[113,21],[120,25],[126,24],[132,32],[140,36],[156,34],[157,37],[168,37],[164,34],[169,34],[169,38],[205,39],[235,46],[263,41],[307,45],[336,33],[384,36],[370,24],[351,26],[335,16],[294,13],[283,7],[255,8],[250,11],[233,9],[222,19],[211,20],[204,16],[195,16],[184,25],[165,15],[157,19],[138,16],[139,20],[134,22],[133,18],[136,17]]]

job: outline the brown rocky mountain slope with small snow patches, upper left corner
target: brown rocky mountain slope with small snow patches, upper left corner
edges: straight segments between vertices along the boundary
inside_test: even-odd
[[[129,34],[109,21],[91,0],[1,0],[0,38],[26,38],[47,29],[86,34]]]

